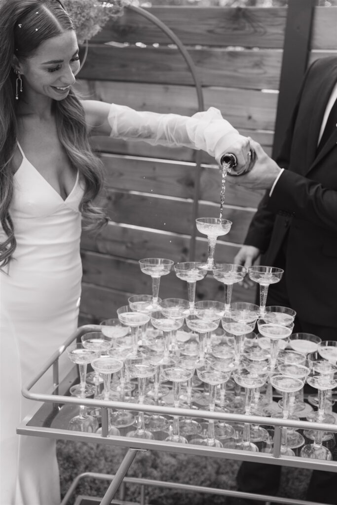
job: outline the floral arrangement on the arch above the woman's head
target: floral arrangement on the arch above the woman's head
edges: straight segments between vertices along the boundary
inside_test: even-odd
[[[109,19],[123,15],[125,6],[132,0],[63,0],[63,5],[73,20],[80,44],[102,30]]]

